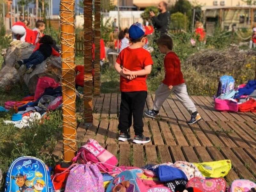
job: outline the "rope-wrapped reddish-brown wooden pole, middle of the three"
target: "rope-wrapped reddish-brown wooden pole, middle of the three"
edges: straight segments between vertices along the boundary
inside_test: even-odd
[[[92,123],[92,0],[84,0],[84,123]]]

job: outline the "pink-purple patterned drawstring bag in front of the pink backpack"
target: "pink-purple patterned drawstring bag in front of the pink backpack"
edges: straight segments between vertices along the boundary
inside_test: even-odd
[[[65,192],[104,192],[103,177],[97,165],[74,164],[68,175]]]

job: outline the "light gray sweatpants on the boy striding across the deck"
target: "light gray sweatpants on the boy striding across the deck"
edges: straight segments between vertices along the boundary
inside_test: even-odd
[[[170,90],[166,84],[162,83],[156,90],[154,110],[159,111],[164,101],[172,92],[190,113],[196,112],[195,104],[188,97],[187,86],[185,83],[173,86],[172,90]]]

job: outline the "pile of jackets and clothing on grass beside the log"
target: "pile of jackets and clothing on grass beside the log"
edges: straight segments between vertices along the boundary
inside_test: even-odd
[[[62,106],[61,86],[50,77],[39,77],[34,96],[27,96],[21,101],[7,101],[4,104],[0,111],[16,111],[12,120],[4,121],[5,124],[14,124],[20,129],[29,127],[31,123],[40,121],[47,111]]]

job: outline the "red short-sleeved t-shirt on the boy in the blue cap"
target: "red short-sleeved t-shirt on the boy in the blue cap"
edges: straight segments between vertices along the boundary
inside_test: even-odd
[[[153,65],[150,53],[143,48],[131,49],[130,47],[126,47],[119,53],[116,62],[131,71],[139,71],[148,65]],[[120,91],[147,91],[146,78],[147,76],[144,75],[138,76],[133,80],[128,80],[120,76]]]

